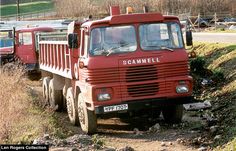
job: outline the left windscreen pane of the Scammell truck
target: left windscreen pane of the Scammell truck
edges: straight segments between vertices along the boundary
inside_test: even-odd
[[[137,49],[133,26],[100,27],[91,31],[89,52],[92,55],[110,55],[133,52]]]

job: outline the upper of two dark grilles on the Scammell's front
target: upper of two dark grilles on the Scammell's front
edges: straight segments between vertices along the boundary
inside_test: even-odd
[[[155,65],[128,67],[125,78],[126,82],[156,80],[157,67]]]

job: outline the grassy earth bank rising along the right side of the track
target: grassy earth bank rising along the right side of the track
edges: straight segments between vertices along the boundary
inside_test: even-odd
[[[214,90],[206,90],[205,97],[210,96],[213,107],[223,106],[212,111],[223,131],[222,139],[214,141],[215,150],[236,150],[236,45],[195,43],[192,50],[204,58],[208,69],[220,71],[225,76]]]

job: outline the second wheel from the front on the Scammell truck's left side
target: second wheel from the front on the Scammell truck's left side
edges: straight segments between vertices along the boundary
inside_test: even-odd
[[[70,119],[70,122],[73,125],[79,125],[77,103],[75,102],[75,99],[73,96],[73,90],[71,87],[67,89],[66,106],[67,106],[67,114]]]

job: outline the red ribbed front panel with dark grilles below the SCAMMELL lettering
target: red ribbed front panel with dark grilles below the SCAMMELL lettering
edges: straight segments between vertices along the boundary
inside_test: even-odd
[[[84,70],[82,80],[90,84],[117,83],[115,91],[123,98],[164,95],[171,93],[172,82],[168,78],[188,75],[186,61],[152,65],[125,66]]]

